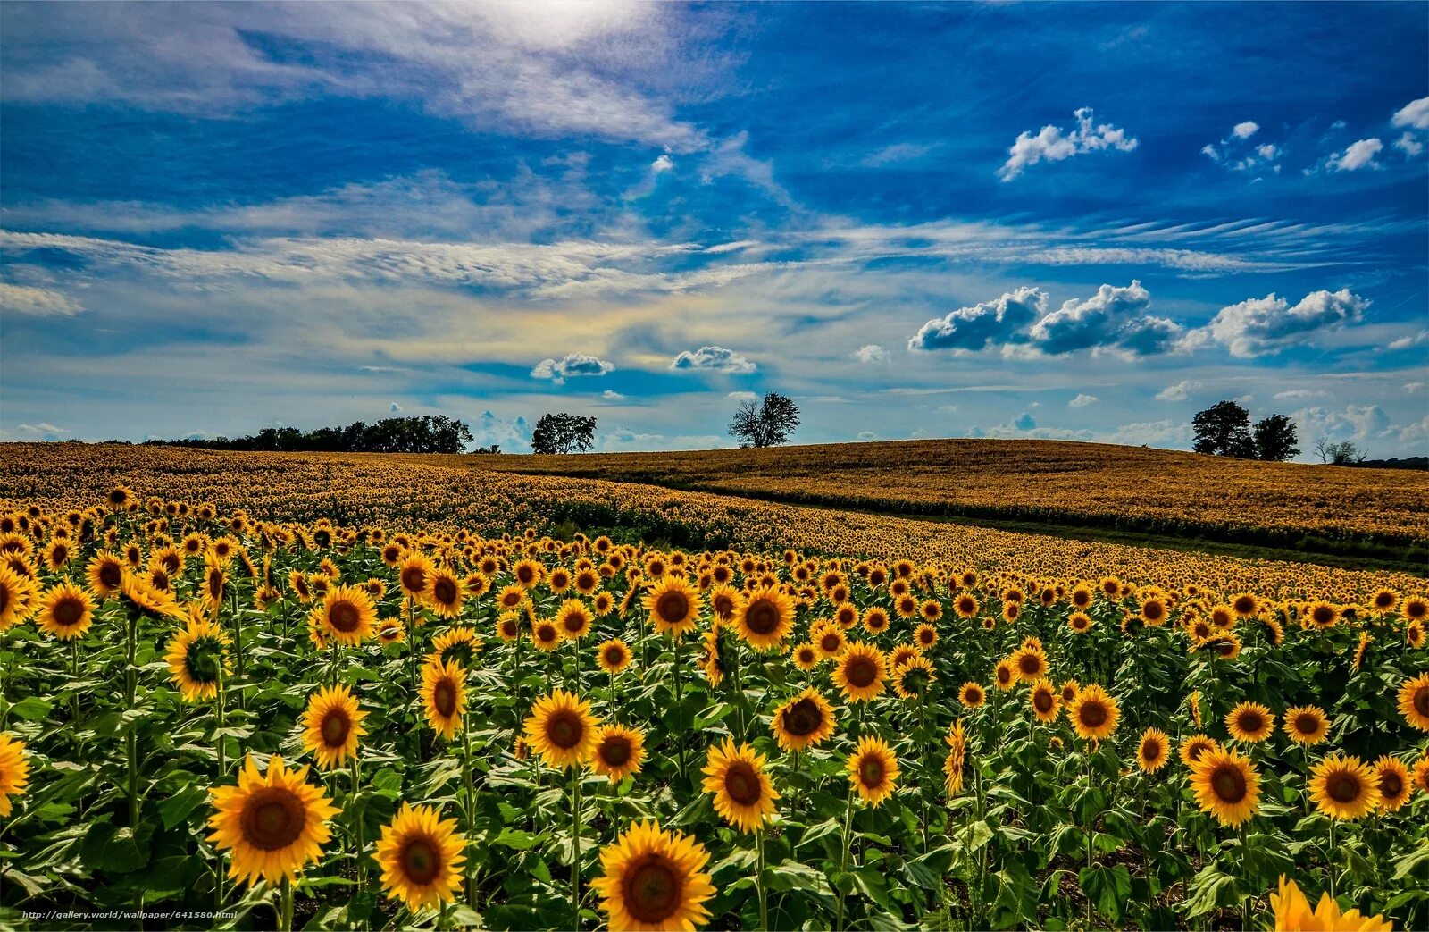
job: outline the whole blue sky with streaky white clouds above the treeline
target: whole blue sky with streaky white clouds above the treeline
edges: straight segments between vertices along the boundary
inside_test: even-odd
[[[1429,453],[1429,7],[0,4],[0,439]]]

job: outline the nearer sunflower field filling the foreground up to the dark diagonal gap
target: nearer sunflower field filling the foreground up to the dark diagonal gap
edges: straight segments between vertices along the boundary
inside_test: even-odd
[[[7,453],[0,926],[1429,926],[1422,577]]]

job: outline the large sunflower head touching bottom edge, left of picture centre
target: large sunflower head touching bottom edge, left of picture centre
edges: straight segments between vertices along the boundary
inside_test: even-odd
[[[714,895],[704,846],[687,835],[666,832],[657,822],[636,822],[600,849],[604,876],[590,886],[610,929],[689,932],[704,925],[704,901]]]

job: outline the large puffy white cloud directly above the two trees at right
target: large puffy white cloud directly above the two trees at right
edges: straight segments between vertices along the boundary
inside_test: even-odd
[[[1305,343],[1316,333],[1355,323],[1369,302],[1349,289],[1312,292],[1295,306],[1275,293],[1222,307],[1209,324],[1187,337],[1189,346],[1216,342],[1232,356],[1253,359]]]

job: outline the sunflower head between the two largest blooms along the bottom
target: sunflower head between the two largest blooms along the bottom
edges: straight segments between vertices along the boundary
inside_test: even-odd
[[[466,861],[466,838],[456,828],[436,806],[402,803],[373,852],[383,891],[412,912],[454,901]]]

